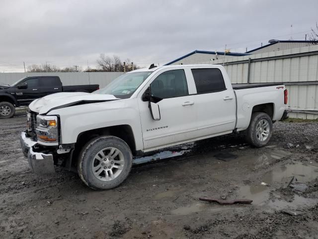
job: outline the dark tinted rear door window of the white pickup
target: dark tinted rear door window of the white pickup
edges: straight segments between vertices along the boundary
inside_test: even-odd
[[[226,90],[222,72],[217,68],[191,69],[197,94]]]

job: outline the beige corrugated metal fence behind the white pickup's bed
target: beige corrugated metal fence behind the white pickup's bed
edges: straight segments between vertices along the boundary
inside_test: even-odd
[[[289,91],[290,117],[318,119],[318,46],[225,58],[233,84],[282,82]],[[211,64],[211,62],[202,62]],[[223,64],[216,60],[214,64]]]

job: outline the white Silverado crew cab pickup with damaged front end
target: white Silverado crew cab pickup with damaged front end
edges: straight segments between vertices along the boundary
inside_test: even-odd
[[[91,94],[33,101],[21,146],[37,174],[60,165],[93,189],[110,189],[144,152],[233,132],[264,146],[286,104],[284,85],[232,85],[220,65],[152,65]]]

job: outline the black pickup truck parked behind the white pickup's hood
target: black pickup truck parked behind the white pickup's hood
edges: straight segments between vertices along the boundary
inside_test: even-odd
[[[0,83],[0,119],[13,117],[15,107],[28,106],[33,100],[59,92],[87,92],[99,85],[63,86],[58,76],[27,76],[12,85]]]

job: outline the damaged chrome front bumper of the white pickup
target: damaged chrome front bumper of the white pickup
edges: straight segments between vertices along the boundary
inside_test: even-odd
[[[53,154],[34,152],[37,142],[27,137],[26,132],[20,134],[21,148],[24,156],[28,159],[31,170],[39,175],[55,173]]]

